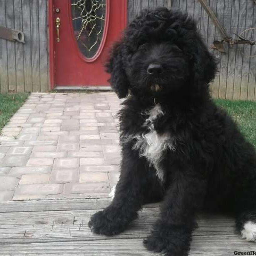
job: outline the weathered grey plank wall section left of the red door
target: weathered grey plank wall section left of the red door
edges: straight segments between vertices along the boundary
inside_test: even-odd
[[[25,34],[25,44],[0,39],[0,92],[47,91],[47,0],[0,0],[0,26]]]

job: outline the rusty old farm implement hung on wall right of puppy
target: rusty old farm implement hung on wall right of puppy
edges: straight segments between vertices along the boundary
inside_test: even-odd
[[[233,40],[232,37],[229,37],[227,35],[227,33],[225,32],[224,27],[221,26],[221,23],[219,22],[218,18],[216,17],[215,13],[212,11],[212,9],[208,5],[208,3],[206,3],[205,0],[198,0],[198,2],[201,3],[201,5],[203,6],[205,11],[207,12],[209,17],[211,18],[212,22],[215,24],[215,26],[218,27],[221,34],[223,35],[223,39],[221,41],[215,40],[213,42],[212,49],[216,49],[219,52],[225,52],[224,47],[223,47],[223,42],[227,42],[228,44],[250,44],[250,45],[254,45],[256,43],[253,40],[245,39],[241,36],[244,32],[246,32],[249,29],[244,30],[243,32],[241,32],[240,35],[235,34],[237,36],[237,40]],[[253,28],[250,28],[250,29],[253,29]]]

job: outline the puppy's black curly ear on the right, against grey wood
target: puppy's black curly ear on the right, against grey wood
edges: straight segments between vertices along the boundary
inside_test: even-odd
[[[207,85],[214,79],[217,65],[215,58],[209,52],[206,45],[198,35],[196,42],[194,42],[194,50],[192,50],[194,67],[193,73],[195,83],[200,87],[201,85]]]

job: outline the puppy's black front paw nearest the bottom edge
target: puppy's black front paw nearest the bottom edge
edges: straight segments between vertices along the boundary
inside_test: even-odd
[[[165,256],[187,256],[189,251],[190,236],[180,233],[180,230],[171,230],[166,227],[157,227],[143,240],[144,246],[154,253]]]

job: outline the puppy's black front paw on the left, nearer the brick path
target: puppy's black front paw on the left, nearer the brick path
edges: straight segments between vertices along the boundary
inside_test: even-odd
[[[88,226],[93,233],[113,236],[125,230],[129,220],[130,218],[125,216],[122,211],[108,207],[103,211],[96,212],[90,218]]]

